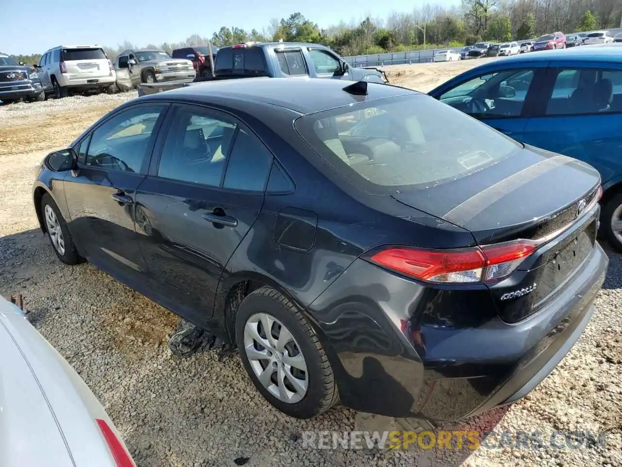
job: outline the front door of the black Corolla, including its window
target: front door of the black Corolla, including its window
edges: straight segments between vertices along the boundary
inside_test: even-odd
[[[131,286],[146,285],[134,202],[166,106],[134,105],[105,120],[81,141],[78,169],[65,177],[76,243],[90,262]]]

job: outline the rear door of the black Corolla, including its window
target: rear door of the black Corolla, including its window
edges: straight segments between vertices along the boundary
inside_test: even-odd
[[[220,111],[174,105],[136,195],[151,289],[208,325],[218,280],[261,210],[272,154]]]

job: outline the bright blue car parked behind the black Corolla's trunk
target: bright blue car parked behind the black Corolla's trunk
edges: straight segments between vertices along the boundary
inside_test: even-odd
[[[622,252],[620,44],[496,60],[430,95],[521,143],[596,167],[603,188],[600,232]]]

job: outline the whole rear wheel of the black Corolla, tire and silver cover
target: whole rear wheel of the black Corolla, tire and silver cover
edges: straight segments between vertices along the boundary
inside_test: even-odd
[[[338,401],[328,357],[299,309],[277,290],[250,293],[236,315],[236,342],[246,372],[281,412],[311,418]]]

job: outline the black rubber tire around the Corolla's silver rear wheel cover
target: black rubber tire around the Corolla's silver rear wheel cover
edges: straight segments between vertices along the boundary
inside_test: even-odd
[[[244,347],[244,329],[249,318],[261,313],[276,318],[277,321],[280,321],[289,330],[294,338],[295,348],[304,358],[307,368],[305,372],[307,391],[299,402],[285,402],[272,395],[261,384],[251,366]],[[257,390],[273,407],[290,417],[311,418],[325,412],[338,402],[339,395],[335,376],[322,344],[299,309],[281,295],[279,291],[271,287],[262,287],[246,296],[239,305],[235,328],[236,343],[238,344],[244,368]],[[296,355],[294,354],[294,356]],[[270,363],[267,362],[267,364]]]

